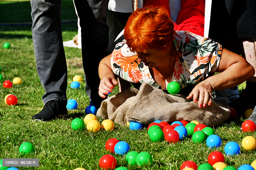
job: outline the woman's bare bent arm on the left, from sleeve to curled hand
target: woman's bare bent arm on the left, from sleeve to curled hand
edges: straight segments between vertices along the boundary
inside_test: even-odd
[[[104,94],[112,92],[112,89],[117,86],[117,75],[111,69],[111,54],[103,58],[99,63],[99,96],[105,98]]]

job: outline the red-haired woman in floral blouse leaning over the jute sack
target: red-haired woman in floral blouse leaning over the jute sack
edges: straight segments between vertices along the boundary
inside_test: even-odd
[[[194,25],[185,26],[194,29]],[[181,89],[193,87],[182,94],[198,100],[201,108],[211,105],[212,91],[237,86],[254,75],[253,67],[243,57],[209,38],[175,31],[174,27],[165,8],[133,12],[124,28],[125,40],[117,43],[113,53],[99,64],[99,95],[105,98],[104,94],[118,84],[117,77],[161,89],[176,81]],[[215,72],[221,73],[214,75]]]

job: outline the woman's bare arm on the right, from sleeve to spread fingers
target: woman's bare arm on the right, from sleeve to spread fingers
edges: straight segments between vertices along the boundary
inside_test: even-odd
[[[192,99],[198,106],[210,106],[212,102],[211,93],[215,90],[228,89],[235,87],[245,80],[253,76],[254,68],[245,60],[245,58],[223,48],[219,67],[216,72],[220,74],[208,77],[198,83],[192,92],[187,96],[187,99]]]

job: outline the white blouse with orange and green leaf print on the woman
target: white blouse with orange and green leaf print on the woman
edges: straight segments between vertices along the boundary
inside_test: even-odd
[[[213,40],[189,31],[176,31],[174,44],[177,50],[172,81],[184,88],[212,76],[219,66],[222,46]],[[117,43],[111,55],[113,72],[124,80],[159,87],[148,66],[138,62],[136,52],[131,52],[126,40]]]

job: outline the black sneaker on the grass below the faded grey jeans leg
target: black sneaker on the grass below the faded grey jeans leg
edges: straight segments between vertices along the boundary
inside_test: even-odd
[[[50,100],[39,113],[32,116],[32,119],[37,121],[49,121],[62,117],[68,117],[66,106],[57,100]]]

